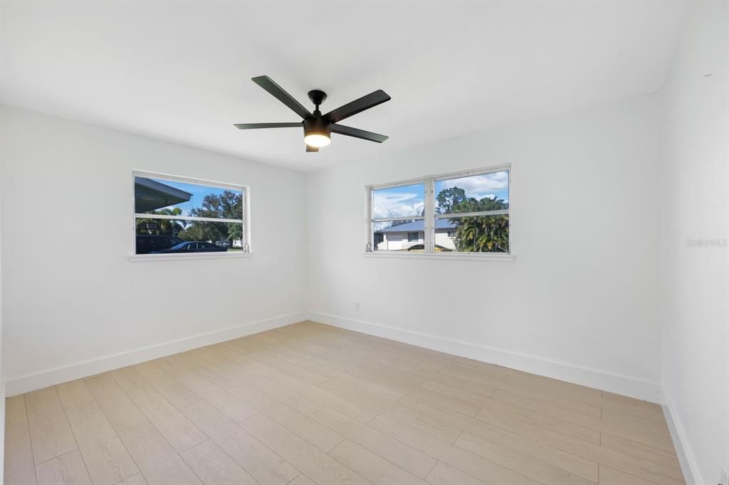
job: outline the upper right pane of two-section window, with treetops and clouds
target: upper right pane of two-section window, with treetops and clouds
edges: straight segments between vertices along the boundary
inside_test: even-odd
[[[509,208],[509,170],[435,181],[435,213]]]

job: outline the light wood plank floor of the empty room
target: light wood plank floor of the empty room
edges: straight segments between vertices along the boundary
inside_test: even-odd
[[[660,406],[302,322],[7,400],[5,484],[684,484]]]

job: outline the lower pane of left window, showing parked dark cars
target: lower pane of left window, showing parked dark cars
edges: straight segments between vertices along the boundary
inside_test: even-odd
[[[241,251],[243,224],[136,219],[136,253],[213,253]]]

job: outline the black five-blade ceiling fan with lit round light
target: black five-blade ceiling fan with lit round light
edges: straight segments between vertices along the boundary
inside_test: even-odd
[[[321,114],[319,106],[327,99],[327,93],[321,90],[309,91],[309,99],[314,104],[313,113],[305,109],[292,95],[284,91],[281,86],[273,82],[268,76],[257,76],[251,79],[254,83],[270,92],[274,98],[284,103],[292,111],[302,117],[303,121],[293,123],[236,123],[235,126],[239,130],[253,130],[256,128],[295,128],[303,127],[304,143],[306,143],[306,151],[319,151],[322,146],[327,146],[332,141],[331,134],[354,136],[354,138],[362,138],[362,140],[375,141],[382,143],[388,137],[371,131],[359,130],[344,125],[339,122],[354,114],[361,113],[365,109],[373,108],[378,104],[389,101],[390,97],[383,90],[370,92],[362,98],[356,99],[351,103],[346,103],[327,114]]]

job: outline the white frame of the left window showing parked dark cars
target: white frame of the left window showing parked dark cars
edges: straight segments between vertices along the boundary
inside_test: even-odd
[[[231,189],[243,192],[243,218],[242,219],[225,219],[215,217],[195,217],[195,216],[165,216],[161,214],[141,214],[136,213],[136,202],[134,200],[134,181],[136,177],[157,178],[159,180],[167,180],[172,182],[182,182],[184,184],[205,185],[215,187],[216,189]],[[247,258],[252,256],[251,245],[251,187],[243,184],[230,184],[228,182],[218,182],[206,180],[203,178],[184,177],[171,175],[169,173],[149,172],[147,170],[132,170],[132,190],[131,190],[131,206],[132,206],[132,253],[129,257],[130,261],[170,261],[185,259],[220,259],[220,258]],[[209,222],[230,222],[233,224],[243,224],[243,238],[241,240],[241,251],[219,252],[219,253],[179,253],[179,254],[137,254],[136,253],[136,220],[138,218],[145,219],[175,219],[177,221],[209,221]]]

